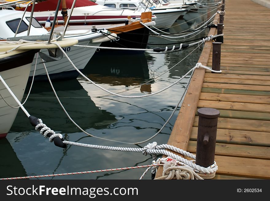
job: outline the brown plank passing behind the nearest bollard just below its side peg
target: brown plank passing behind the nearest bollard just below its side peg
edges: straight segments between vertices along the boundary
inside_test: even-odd
[[[196,141],[189,141],[187,151],[196,153],[196,147]],[[270,160],[270,147],[216,143],[215,155]]]

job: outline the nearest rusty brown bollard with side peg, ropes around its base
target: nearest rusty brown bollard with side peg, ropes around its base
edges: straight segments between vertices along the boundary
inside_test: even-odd
[[[214,164],[219,114],[219,110],[214,108],[198,110],[196,164],[205,168]]]

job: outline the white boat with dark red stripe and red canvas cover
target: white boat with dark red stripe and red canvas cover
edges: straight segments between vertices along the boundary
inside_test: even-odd
[[[46,0],[39,2],[34,6],[34,17],[42,24],[45,25],[46,21],[52,21],[55,14],[57,1]],[[70,13],[73,0],[66,0],[67,12]],[[63,7],[60,6],[60,10]],[[21,9],[24,10],[24,9]],[[27,8],[27,11],[31,11],[32,6]],[[57,24],[64,23],[64,17],[61,11],[57,14]],[[102,24],[118,24],[125,23],[125,20],[131,18],[141,19],[141,12],[134,10],[119,10],[109,8],[107,6],[98,5],[92,1],[80,0],[75,3],[75,7],[72,11],[72,16],[69,21],[69,25],[102,25]],[[152,20],[155,20],[156,16],[152,15]]]

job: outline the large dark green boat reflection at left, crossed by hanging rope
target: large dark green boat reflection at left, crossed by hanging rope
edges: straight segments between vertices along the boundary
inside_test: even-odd
[[[77,79],[54,82],[53,86],[70,117],[82,129],[102,129],[116,121],[113,114],[95,105]],[[26,89],[26,91],[28,90]],[[81,132],[68,119],[47,82],[38,82],[33,85],[31,94],[24,106],[31,115],[41,118],[47,126],[60,133]],[[25,114],[19,111],[11,131],[26,131],[27,133],[33,129]]]

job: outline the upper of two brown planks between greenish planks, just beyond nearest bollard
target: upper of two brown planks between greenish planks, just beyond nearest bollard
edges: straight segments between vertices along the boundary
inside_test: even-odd
[[[270,104],[269,96],[256,96],[256,95],[250,96],[239,94],[201,93],[200,100]]]

